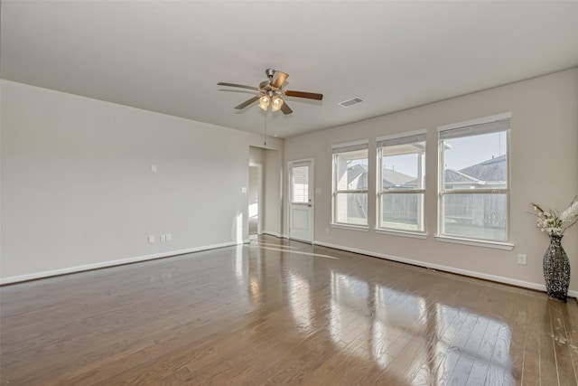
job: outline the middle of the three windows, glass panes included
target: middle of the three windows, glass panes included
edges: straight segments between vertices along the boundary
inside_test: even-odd
[[[425,130],[378,138],[378,229],[424,232]]]

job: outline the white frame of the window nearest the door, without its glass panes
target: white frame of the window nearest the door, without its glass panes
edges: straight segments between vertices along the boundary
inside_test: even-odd
[[[368,189],[339,189],[339,181],[338,181],[338,174],[337,174],[337,165],[338,165],[338,157],[340,154],[343,153],[352,153],[354,151],[365,150],[367,152],[367,156],[365,159],[368,161],[369,166],[369,141],[367,139],[348,142],[339,145],[331,146],[331,226],[336,228],[350,228],[355,230],[368,230],[369,227],[369,219],[365,224],[359,223],[351,223],[351,222],[342,222],[337,221],[337,214],[338,214],[338,200],[337,197],[339,194],[365,194],[366,195],[366,202],[368,203]],[[368,170],[368,177],[369,177],[369,170]],[[368,213],[368,207],[365,208],[366,214]]]

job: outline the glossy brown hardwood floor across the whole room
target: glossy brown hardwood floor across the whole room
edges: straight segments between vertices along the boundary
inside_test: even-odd
[[[575,385],[578,306],[263,237],[0,288],[10,385]]]

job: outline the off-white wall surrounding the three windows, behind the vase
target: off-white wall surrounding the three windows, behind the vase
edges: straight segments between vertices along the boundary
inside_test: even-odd
[[[489,249],[437,241],[436,127],[510,111],[512,250]],[[331,145],[369,139],[369,159],[376,159],[375,138],[427,129],[426,240],[350,231],[331,227]],[[334,127],[285,140],[287,161],[315,159],[314,240],[343,249],[364,251],[415,264],[443,268],[525,287],[544,288],[542,256],[548,238],[536,229],[530,202],[563,210],[578,193],[578,69],[489,89],[461,98]],[[375,220],[375,162],[369,168],[369,224]],[[329,232],[329,233],[328,233]],[[563,246],[575,270],[570,289],[578,295],[578,226],[566,232]],[[517,254],[527,254],[527,265]]]

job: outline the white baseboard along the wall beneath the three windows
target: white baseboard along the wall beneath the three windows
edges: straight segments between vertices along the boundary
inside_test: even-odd
[[[514,278],[504,278],[501,276],[488,275],[488,274],[484,274],[484,273],[480,273],[480,272],[476,272],[476,271],[471,271],[471,270],[467,270],[467,269],[453,268],[453,267],[447,267],[447,266],[443,266],[443,265],[439,265],[439,264],[432,264],[432,263],[428,263],[426,261],[400,258],[398,256],[386,255],[383,253],[373,252],[373,251],[364,250],[364,249],[343,247],[341,245],[330,244],[330,243],[322,242],[322,241],[313,241],[313,244],[321,245],[323,247],[328,247],[328,248],[333,248],[333,249],[347,250],[348,252],[354,252],[354,253],[359,253],[362,255],[368,255],[368,256],[371,256],[374,258],[387,259],[387,260],[397,261],[400,263],[411,264],[413,266],[432,268],[432,269],[437,269],[437,270],[441,270],[444,272],[451,272],[451,273],[456,273],[458,275],[469,276],[471,278],[482,278],[484,280],[496,281],[499,283],[509,284],[511,286],[525,287],[525,288],[536,289],[538,291],[545,292],[545,285],[544,284],[537,284],[537,283],[532,283],[529,281],[517,280]],[[568,296],[578,297],[578,291],[572,291],[572,290],[568,291]]]

